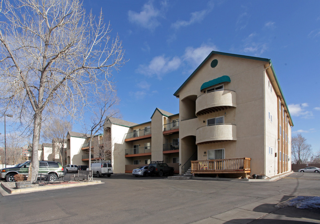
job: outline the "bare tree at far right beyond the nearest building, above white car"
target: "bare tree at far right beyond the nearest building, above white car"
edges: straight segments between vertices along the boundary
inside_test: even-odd
[[[296,164],[307,163],[312,154],[311,145],[307,143],[307,139],[301,134],[292,137],[291,155]]]

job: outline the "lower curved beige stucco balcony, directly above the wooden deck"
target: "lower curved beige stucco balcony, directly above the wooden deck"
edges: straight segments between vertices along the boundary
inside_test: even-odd
[[[196,145],[237,140],[235,124],[206,125],[196,130]]]

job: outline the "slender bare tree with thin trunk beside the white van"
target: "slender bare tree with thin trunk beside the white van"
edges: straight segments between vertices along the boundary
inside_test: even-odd
[[[104,122],[107,117],[113,117],[118,113],[115,106],[119,103],[118,97],[115,95],[115,91],[109,91],[104,94],[104,101],[96,101],[95,108],[92,108],[92,116],[90,118],[90,126],[88,129],[89,137],[89,170],[91,170],[91,150],[92,140],[98,132],[103,133]],[[98,152],[100,147],[98,147]],[[101,151],[100,151],[101,152]],[[103,157],[101,157],[103,158]]]

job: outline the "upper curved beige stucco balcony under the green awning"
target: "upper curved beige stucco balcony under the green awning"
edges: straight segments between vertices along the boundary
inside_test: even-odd
[[[233,90],[216,90],[204,93],[196,99],[196,116],[236,107],[236,92]]]

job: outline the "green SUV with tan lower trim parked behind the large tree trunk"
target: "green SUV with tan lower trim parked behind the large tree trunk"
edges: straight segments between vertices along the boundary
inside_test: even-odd
[[[5,179],[7,182],[14,182],[14,175],[21,173],[28,177],[28,171],[31,161],[20,164],[16,167],[4,168],[0,170],[0,179]],[[48,180],[55,181],[56,178],[64,176],[63,167],[60,162],[39,161],[39,174],[49,175]]]

